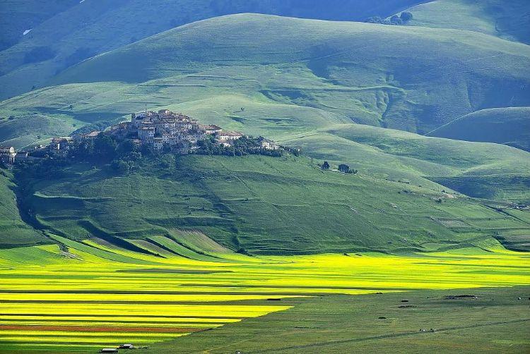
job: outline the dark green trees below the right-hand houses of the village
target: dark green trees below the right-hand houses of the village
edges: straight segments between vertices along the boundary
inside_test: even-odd
[[[207,140],[199,141],[198,145],[199,149],[196,149],[195,153],[201,155],[245,156],[251,154],[271,157],[283,156],[283,151],[281,149],[263,149],[259,145],[257,139],[247,137],[234,140],[232,142],[232,146],[216,145],[215,139],[213,137]]]

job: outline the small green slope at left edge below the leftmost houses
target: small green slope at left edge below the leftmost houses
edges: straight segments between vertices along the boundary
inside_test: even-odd
[[[0,248],[49,243],[42,233],[20,219],[12,178],[9,171],[0,168]]]

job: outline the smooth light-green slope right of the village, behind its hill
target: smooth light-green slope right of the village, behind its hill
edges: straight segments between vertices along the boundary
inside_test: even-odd
[[[530,200],[530,155],[513,147],[356,124],[295,135],[286,143],[320,159],[348,161],[392,181],[430,186],[428,179],[473,197]]]

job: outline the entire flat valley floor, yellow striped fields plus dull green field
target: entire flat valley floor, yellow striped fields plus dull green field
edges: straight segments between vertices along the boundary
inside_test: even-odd
[[[211,244],[192,259],[54,238],[61,248],[0,251],[2,353],[530,348],[527,253],[250,257]]]

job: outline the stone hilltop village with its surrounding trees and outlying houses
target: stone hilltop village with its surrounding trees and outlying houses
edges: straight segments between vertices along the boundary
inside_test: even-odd
[[[0,161],[13,164],[16,159],[66,157],[76,147],[101,137],[114,142],[130,140],[141,149],[173,154],[281,154],[281,147],[272,140],[249,138],[237,131],[223,130],[215,125],[199,124],[194,118],[168,109],[131,114],[131,121],[118,123],[105,131],[93,130],[68,137],[53,138],[49,145],[16,151],[14,147],[0,147]]]

